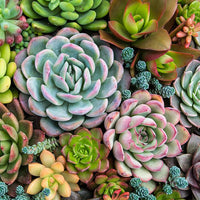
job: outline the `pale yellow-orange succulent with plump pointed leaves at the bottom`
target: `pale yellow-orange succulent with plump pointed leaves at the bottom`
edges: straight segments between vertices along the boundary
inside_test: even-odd
[[[41,163],[31,163],[28,165],[29,172],[33,176],[39,176],[34,179],[27,188],[27,193],[35,195],[44,188],[50,189],[50,194],[46,199],[60,199],[69,197],[71,191],[79,191],[79,177],[65,171],[66,161],[63,156],[55,159],[55,156],[47,150],[40,154]]]

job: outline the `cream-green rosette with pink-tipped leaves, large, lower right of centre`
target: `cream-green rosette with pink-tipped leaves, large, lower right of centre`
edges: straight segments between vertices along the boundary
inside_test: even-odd
[[[165,182],[169,169],[161,158],[179,155],[190,137],[179,119],[177,109],[165,108],[161,96],[146,90],[134,92],[120,111],[110,113],[104,121],[103,141],[113,150],[118,173],[140,178],[151,192],[152,180]]]

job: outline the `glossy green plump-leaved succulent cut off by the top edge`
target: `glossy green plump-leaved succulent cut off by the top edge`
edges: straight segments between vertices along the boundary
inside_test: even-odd
[[[107,27],[106,20],[102,18],[108,14],[110,3],[107,0],[22,0],[21,7],[25,15],[32,19],[46,18],[53,26],[65,26],[98,31]],[[41,32],[54,31],[45,28],[39,21],[33,21],[32,26]]]

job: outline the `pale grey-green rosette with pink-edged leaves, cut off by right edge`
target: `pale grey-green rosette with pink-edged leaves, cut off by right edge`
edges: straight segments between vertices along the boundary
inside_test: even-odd
[[[200,62],[193,60],[174,82],[171,106],[181,111],[181,124],[200,128]]]

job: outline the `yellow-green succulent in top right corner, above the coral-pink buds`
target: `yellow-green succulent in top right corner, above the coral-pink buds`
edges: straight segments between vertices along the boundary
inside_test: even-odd
[[[200,2],[198,0],[188,2],[184,6],[181,6],[181,4],[178,4],[178,17],[176,18],[176,22],[178,24],[181,24],[181,16],[184,17],[185,19],[190,18],[193,14],[195,14],[195,19],[194,21],[196,23],[200,22]]]

